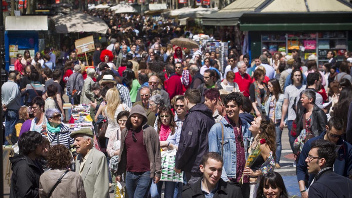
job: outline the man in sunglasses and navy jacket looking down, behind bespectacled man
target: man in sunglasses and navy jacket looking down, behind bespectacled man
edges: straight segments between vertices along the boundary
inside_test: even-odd
[[[344,141],[344,122],[341,118],[332,117],[326,125],[326,131],[322,132],[320,136],[309,139],[303,146],[301,154],[298,156],[296,174],[298,185],[300,187],[301,196],[308,197],[306,187],[311,184],[312,180],[316,177],[316,173],[312,171],[312,165],[307,165],[307,157],[313,150],[313,143],[316,140],[326,140],[335,144],[335,150],[337,150],[338,157],[333,162],[333,171],[344,177],[348,177],[352,170],[352,145]],[[318,155],[313,155],[318,156]],[[316,162],[314,163],[316,164]],[[309,175],[308,175],[309,174]],[[307,180],[306,178],[309,179]]]

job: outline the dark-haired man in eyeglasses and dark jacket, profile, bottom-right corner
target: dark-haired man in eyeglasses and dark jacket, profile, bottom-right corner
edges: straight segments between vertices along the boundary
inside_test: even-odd
[[[337,173],[336,160],[340,154],[336,153],[336,145],[332,142],[318,139],[312,143],[305,159],[308,173],[316,174],[308,190],[301,190],[303,197],[351,197],[352,181]]]

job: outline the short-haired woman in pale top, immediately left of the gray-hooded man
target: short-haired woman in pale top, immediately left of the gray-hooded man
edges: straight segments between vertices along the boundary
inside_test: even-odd
[[[109,141],[108,141],[108,146],[106,147],[106,152],[110,157],[120,155],[121,131],[126,128],[126,122],[127,122],[127,118],[129,115],[130,115],[130,112],[128,112],[128,111],[121,111],[117,115],[116,120],[117,120],[117,123],[119,124],[120,128],[117,130],[117,132],[111,134]],[[110,163],[113,163],[113,161],[110,160]],[[117,186],[116,176],[117,175],[114,174],[113,169],[111,169],[110,171],[111,171],[112,181],[113,181],[113,185],[114,185],[114,193],[116,193],[116,186]]]

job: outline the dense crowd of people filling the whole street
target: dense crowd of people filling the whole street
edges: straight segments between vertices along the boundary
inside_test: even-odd
[[[173,20],[89,14],[109,26],[94,67],[63,43],[61,57],[17,54],[2,85],[4,144],[19,147],[10,197],[288,197],[274,172],[286,126],[301,197],[351,196],[351,52],[329,51],[321,71],[297,50],[250,62],[233,47],[221,67],[216,52],[170,44],[194,33]],[[65,125],[65,94],[92,128]],[[184,182],[160,181],[170,150]]]

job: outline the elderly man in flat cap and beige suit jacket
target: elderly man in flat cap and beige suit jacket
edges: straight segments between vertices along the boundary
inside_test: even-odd
[[[93,132],[91,129],[74,131],[71,135],[75,142],[76,173],[83,179],[87,198],[109,197],[109,176],[105,155],[93,147]]]

